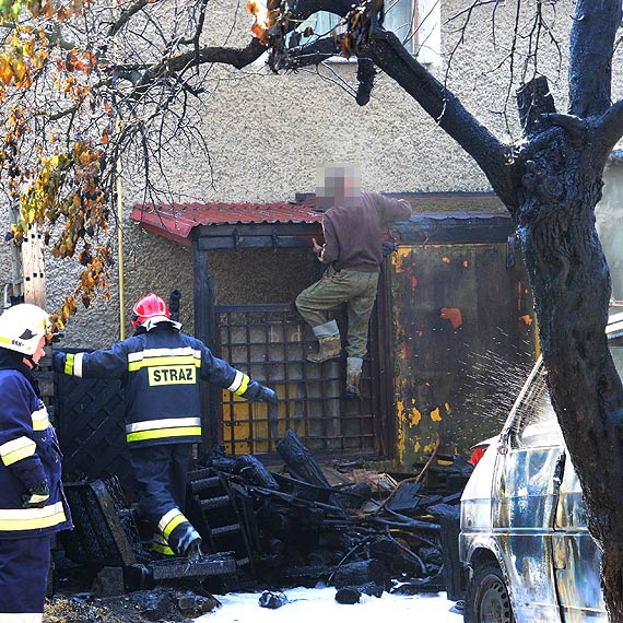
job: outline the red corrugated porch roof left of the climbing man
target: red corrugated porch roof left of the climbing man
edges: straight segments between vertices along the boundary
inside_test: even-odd
[[[317,223],[321,212],[312,204],[275,203],[136,203],[131,219],[165,238],[190,244],[188,236],[197,225],[247,223]]]

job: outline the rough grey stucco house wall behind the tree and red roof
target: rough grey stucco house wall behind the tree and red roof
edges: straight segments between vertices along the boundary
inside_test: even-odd
[[[564,7],[563,7],[564,4]],[[445,63],[459,37],[461,19],[450,20],[465,9],[461,0],[444,0],[443,47]],[[244,3],[226,1],[209,3],[210,45],[240,45],[248,40],[250,19]],[[550,10],[550,8],[548,8]],[[572,2],[556,3],[557,33],[565,48]],[[494,46],[491,7],[474,14],[466,43],[452,56],[448,73],[450,89],[459,94],[470,110],[495,133],[517,136],[514,87],[508,85],[508,66],[493,71],[507,54],[506,32],[515,19],[515,2],[499,4],[496,11]],[[235,19],[235,27],[231,32]],[[449,21],[450,20],[450,21]],[[525,45],[525,40],[519,42]],[[552,48],[550,48],[552,50]],[[619,57],[615,64],[619,66]],[[557,68],[555,54],[541,57],[541,71],[560,75],[552,84],[559,108],[564,110],[566,68]],[[447,67],[434,72],[445,79]],[[556,70],[560,73],[556,74]],[[313,191],[315,169],[328,161],[353,161],[362,165],[364,188],[378,191],[448,191],[489,190],[489,183],[470,157],[430,119],[415,102],[390,79],[379,74],[371,103],[358,107],[340,80],[356,84],[356,64],[333,63],[331,71],[321,69],[297,73],[272,74],[263,62],[244,70],[214,67],[210,70],[202,108],[196,114],[210,150],[210,162],[203,149],[180,145],[178,154],[165,163],[174,191],[181,200],[287,200],[296,191]],[[615,96],[623,82],[618,82]],[[505,108],[508,116],[504,115]],[[129,211],[142,199],[140,171],[125,163],[124,220],[126,313],[131,303],[146,291],[168,294],[177,287],[184,294],[183,320],[192,329],[192,261],[188,248],[142,232],[130,222]],[[5,222],[5,220],[4,220]],[[113,233],[111,243],[115,244]],[[8,274],[7,247],[0,252],[1,274]],[[302,263],[278,254],[262,261],[266,282],[280,275],[289,296],[299,286],[297,279],[306,270],[309,257]],[[247,263],[247,262],[250,262]],[[211,263],[216,280],[218,302],[233,299],[240,292],[247,301],[268,301],[270,287],[258,278],[245,281],[248,269],[257,275],[255,256],[214,254]],[[90,310],[81,310],[70,322],[68,345],[101,346],[116,340],[118,327],[118,282],[109,279],[111,297],[101,298]],[[240,284],[235,293],[232,273]],[[48,307],[57,306],[62,295],[73,287],[77,271],[66,265],[48,262]],[[242,277],[240,277],[242,275]],[[265,282],[265,279],[260,280]],[[244,287],[244,290],[243,290]],[[281,296],[281,295],[280,295]]]

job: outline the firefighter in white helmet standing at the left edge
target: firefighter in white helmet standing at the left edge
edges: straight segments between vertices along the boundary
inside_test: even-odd
[[[56,433],[33,379],[48,328],[35,305],[0,316],[0,621],[43,621],[50,536],[72,527]]]

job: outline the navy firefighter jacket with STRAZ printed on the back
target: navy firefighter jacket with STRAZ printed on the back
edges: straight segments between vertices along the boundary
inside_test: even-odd
[[[91,353],[54,353],[54,369],[83,378],[119,378],[126,438],[132,446],[201,440],[200,380],[243,395],[249,377],[168,322]]]

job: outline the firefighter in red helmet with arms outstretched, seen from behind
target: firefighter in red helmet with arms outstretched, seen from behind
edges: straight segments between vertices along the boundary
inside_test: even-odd
[[[277,402],[277,395],[215,357],[200,340],[180,332],[168,305],[155,294],[136,303],[132,326],[134,336],[110,350],[55,352],[54,368],[83,378],[121,379],[138,510],[157,527],[153,549],[197,556],[201,538],[183,510],[192,444],[201,442],[199,380],[248,400]]]

